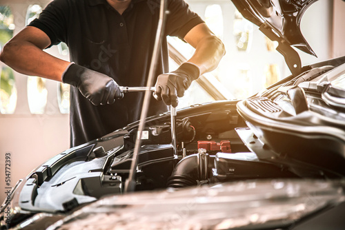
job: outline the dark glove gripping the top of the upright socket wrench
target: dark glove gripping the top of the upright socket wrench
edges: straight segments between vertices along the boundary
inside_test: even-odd
[[[177,96],[184,96],[192,81],[199,76],[200,69],[197,65],[183,63],[177,70],[158,76],[154,96],[158,101],[163,100],[166,105],[177,107]]]

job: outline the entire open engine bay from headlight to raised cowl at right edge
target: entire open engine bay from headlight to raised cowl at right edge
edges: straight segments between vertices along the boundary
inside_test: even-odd
[[[337,119],[344,109],[325,103],[318,86],[325,74],[332,79],[344,67],[321,68],[316,74],[314,68],[319,67],[244,101],[179,110],[176,154],[170,113],[146,118],[135,191],[253,179],[344,178],[344,122]],[[34,169],[12,191],[12,224],[34,213],[64,215],[103,196],[124,194],[138,125],[63,151]]]

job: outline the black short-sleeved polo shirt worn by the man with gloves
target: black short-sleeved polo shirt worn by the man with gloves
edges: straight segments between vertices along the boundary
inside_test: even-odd
[[[183,0],[168,0],[165,34],[181,39],[203,21]],[[51,45],[65,42],[70,61],[111,76],[122,86],[145,86],[159,20],[159,0],[132,0],[121,15],[106,0],[55,0],[30,23],[45,32]],[[166,39],[161,44],[158,76],[168,72]],[[71,87],[71,146],[99,138],[139,120],[144,93],[128,93],[112,105],[92,105]],[[152,98],[149,116],[166,112]]]

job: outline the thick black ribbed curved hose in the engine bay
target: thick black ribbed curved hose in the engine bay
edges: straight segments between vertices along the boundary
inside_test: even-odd
[[[202,160],[201,158],[204,158]],[[167,186],[173,188],[197,185],[197,180],[207,180],[214,167],[214,156],[193,154],[183,158],[168,178]],[[204,162],[204,164],[200,164]]]

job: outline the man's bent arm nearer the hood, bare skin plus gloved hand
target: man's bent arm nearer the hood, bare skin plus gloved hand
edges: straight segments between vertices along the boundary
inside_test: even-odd
[[[155,85],[155,98],[173,107],[177,106],[177,96],[184,96],[192,81],[201,74],[214,70],[225,54],[224,44],[206,23],[195,25],[184,40],[195,48],[195,53],[174,72],[159,75]]]

